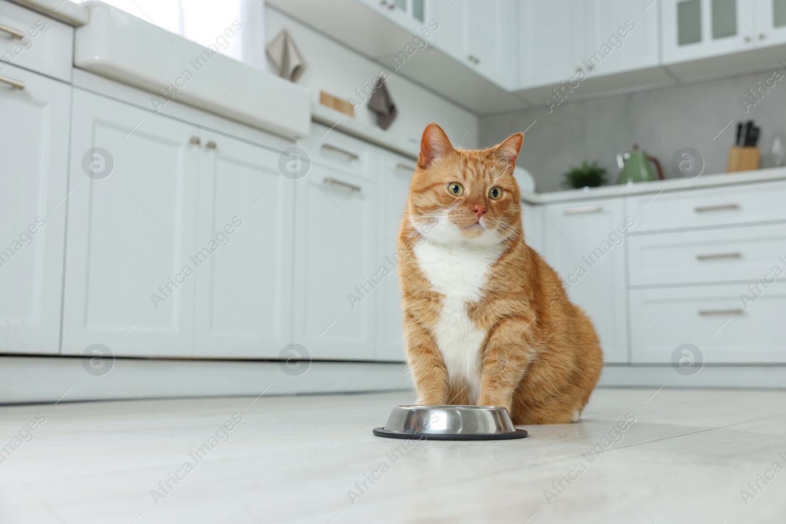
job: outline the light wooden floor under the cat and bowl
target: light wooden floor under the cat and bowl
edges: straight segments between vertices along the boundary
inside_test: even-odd
[[[0,464],[0,522],[784,522],[786,471],[766,471],[786,467],[786,392],[653,393],[597,390],[581,423],[417,442],[396,460],[403,441],[370,432],[407,392],[3,407],[0,446],[36,413],[46,422]],[[242,423],[197,464],[189,453],[235,412]],[[626,413],[636,422],[590,462]],[[185,462],[193,471],[160,489]],[[755,494],[759,474],[775,478]]]

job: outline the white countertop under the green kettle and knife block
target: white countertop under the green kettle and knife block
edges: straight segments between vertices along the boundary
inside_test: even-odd
[[[567,202],[572,200],[589,200],[596,198],[644,195],[662,191],[683,191],[685,189],[701,189],[720,185],[751,184],[786,180],[786,167],[772,167],[754,171],[740,171],[739,173],[705,174],[693,180],[669,178],[652,182],[639,182],[633,185],[604,185],[599,188],[569,189],[555,192],[521,192],[521,200],[525,203],[551,203]]]

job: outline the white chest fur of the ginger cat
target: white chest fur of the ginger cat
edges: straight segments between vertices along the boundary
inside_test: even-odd
[[[466,380],[472,398],[480,390],[481,348],[486,330],[468,317],[467,303],[483,297],[490,267],[501,247],[443,246],[422,240],[415,247],[418,266],[443,295],[442,315],[433,333],[450,380]]]

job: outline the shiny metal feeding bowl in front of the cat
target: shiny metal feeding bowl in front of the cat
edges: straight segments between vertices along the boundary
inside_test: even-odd
[[[494,405],[397,405],[385,427],[374,434],[431,440],[504,440],[524,438],[505,408]]]

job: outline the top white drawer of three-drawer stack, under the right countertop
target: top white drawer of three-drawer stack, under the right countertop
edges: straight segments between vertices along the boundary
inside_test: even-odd
[[[663,192],[654,198],[642,195],[629,200],[636,232],[786,220],[784,181]]]

